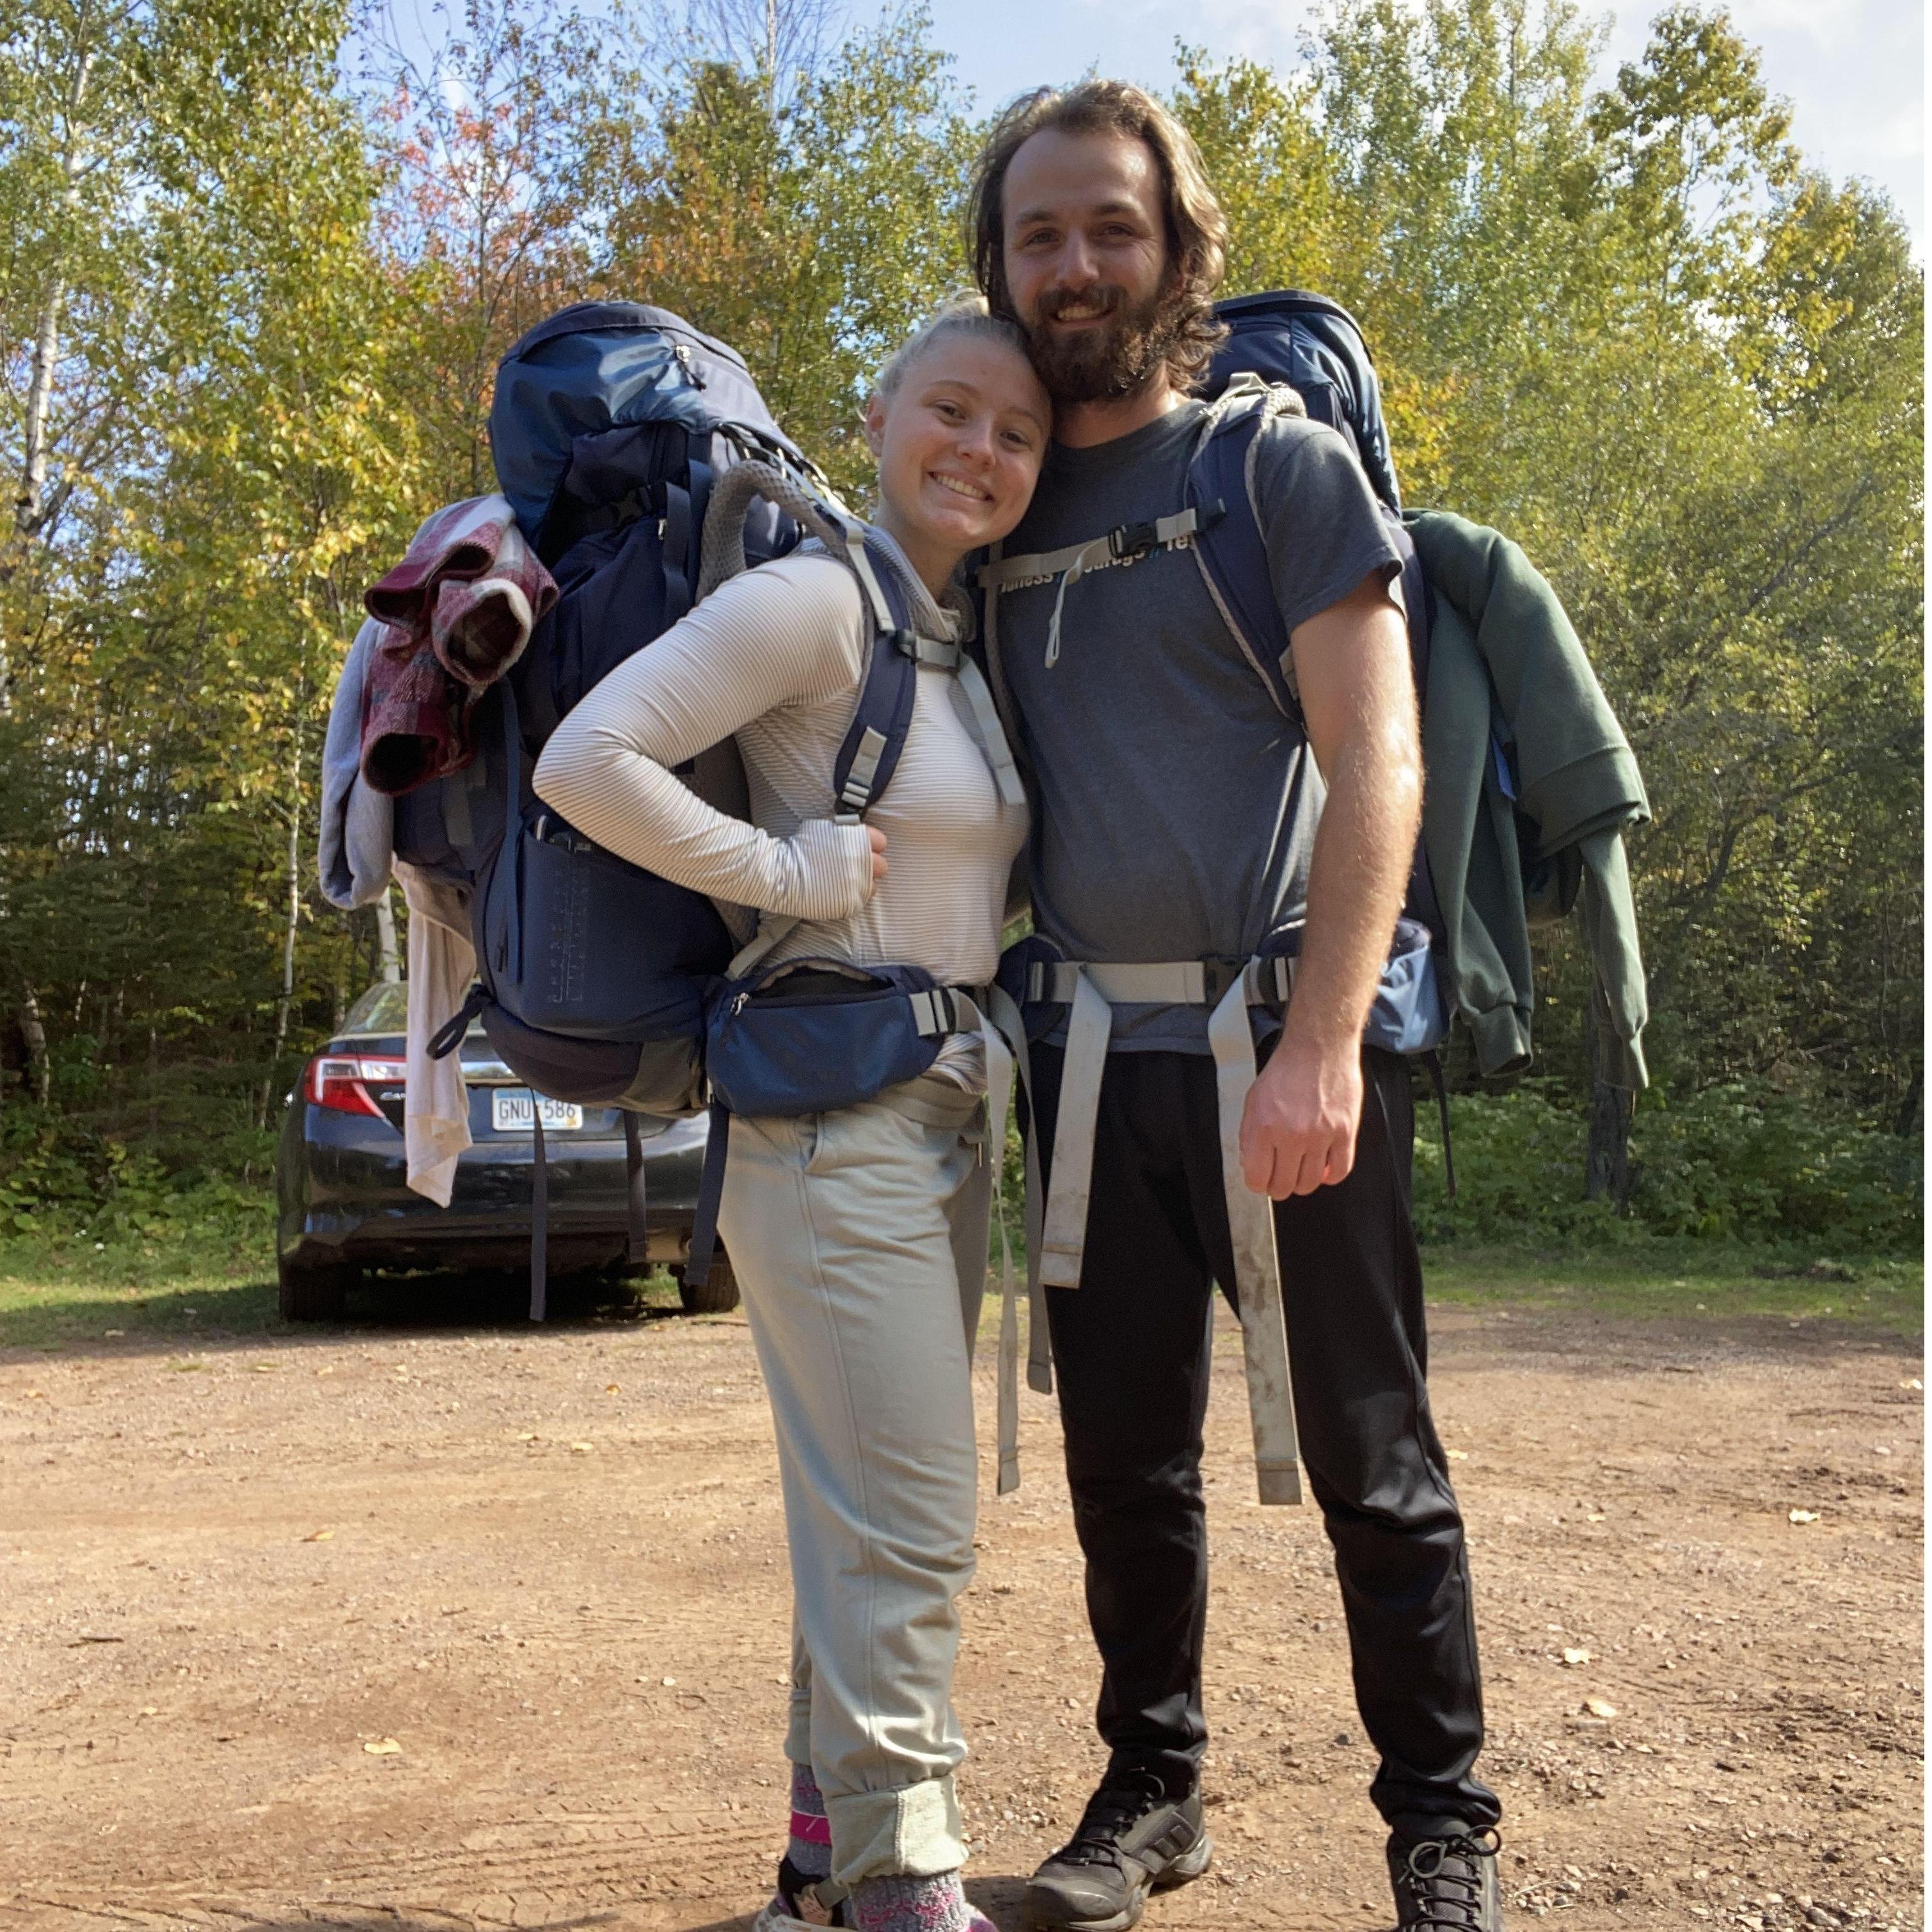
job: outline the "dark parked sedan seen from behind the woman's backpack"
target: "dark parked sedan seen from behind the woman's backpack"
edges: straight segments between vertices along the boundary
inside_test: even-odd
[[[483,1030],[462,1045],[473,1146],[456,1163],[448,1208],[406,1184],[402,1150],[406,993],[373,985],[288,1097],[276,1151],[276,1273],[290,1321],[328,1321],[369,1267],[527,1269],[533,1113],[543,1109],[549,1271],[624,1260],[663,1264],[694,1312],[734,1308],[721,1254],[703,1291],[686,1289],[705,1122],[639,1117],[645,1252],[630,1252],[624,1117],[531,1090]]]

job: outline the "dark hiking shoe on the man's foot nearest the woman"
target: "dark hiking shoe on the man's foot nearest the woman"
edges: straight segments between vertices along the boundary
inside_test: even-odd
[[[1109,1777],[1088,1799],[1080,1830],[1026,1888],[1043,1932],[1126,1932],[1148,1893],[1200,1878],[1213,1857],[1200,1793],[1179,1803],[1148,1772]]]

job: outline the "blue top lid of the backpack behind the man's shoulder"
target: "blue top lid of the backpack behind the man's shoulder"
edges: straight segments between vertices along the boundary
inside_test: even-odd
[[[1316,421],[1354,442],[1370,489],[1391,510],[1401,510],[1376,357],[1356,319],[1339,301],[1302,288],[1217,301],[1215,315],[1227,323],[1229,336],[1215,350],[1202,394],[1211,402],[1229,377],[1242,371],[1264,383],[1287,383]]]

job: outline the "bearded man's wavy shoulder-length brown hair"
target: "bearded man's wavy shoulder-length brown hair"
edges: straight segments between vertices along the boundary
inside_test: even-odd
[[[1173,288],[1163,299],[1173,346],[1167,373],[1175,388],[1196,388],[1227,328],[1213,319],[1213,292],[1227,269],[1227,216],[1208,185],[1194,137],[1151,95],[1126,81],[1082,81],[1059,93],[1020,95],[993,124],[974,170],[970,245],[974,280],[995,315],[1012,315],[1007,288],[1007,170],[1036,133],[1111,133],[1146,141],[1161,174],[1161,213]]]

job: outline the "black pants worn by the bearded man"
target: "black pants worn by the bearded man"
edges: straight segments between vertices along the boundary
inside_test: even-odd
[[[1065,1055],[1036,1047],[1041,1161]],[[1472,1776],[1482,1685],[1463,1517],[1430,1420],[1422,1264],[1408,1221],[1408,1070],[1366,1049],[1362,1130],[1339,1186],[1275,1208],[1304,1472],[1341,1578],[1354,1694],[1381,1768],[1370,1789],[1408,1837],[1495,1824]],[[1066,1480],[1086,1555],[1111,1768],[1194,1789],[1208,1723],[1202,1640],[1213,1283],[1233,1291],[1215,1066],[1111,1053],[1086,1262],[1047,1289]],[[1231,1294],[1233,1298],[1233,1294]]]

